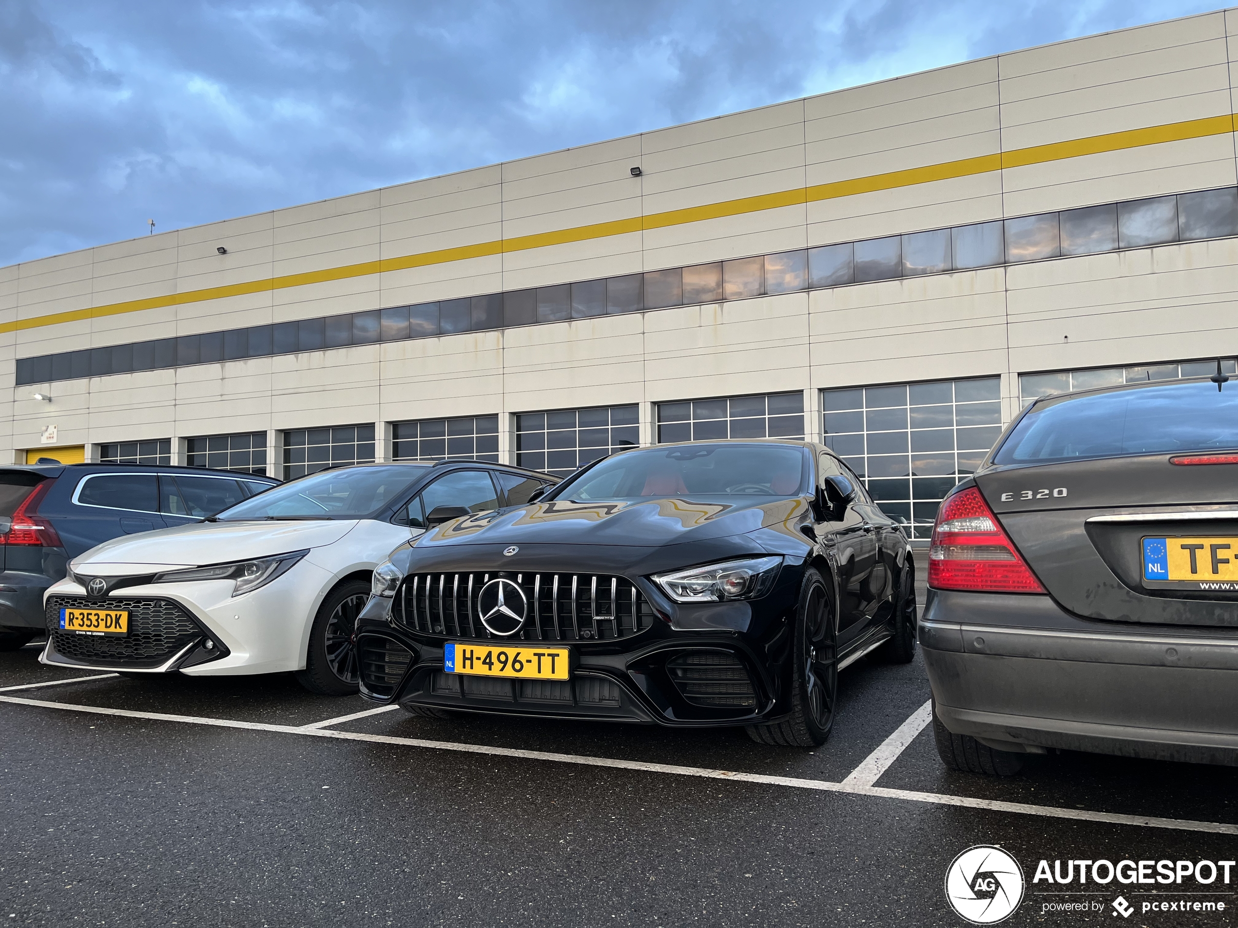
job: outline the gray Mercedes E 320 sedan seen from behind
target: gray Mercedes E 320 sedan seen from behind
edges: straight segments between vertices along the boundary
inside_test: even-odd
[[[920,643],[947,766],[1238,765],[1238,380],[1037,400],[942,502]]]

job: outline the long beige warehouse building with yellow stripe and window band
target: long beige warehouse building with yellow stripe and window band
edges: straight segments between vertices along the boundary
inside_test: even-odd
[[[1192,16],[2,269],[0,447],[293,478],[823,438],[924,538],[1029,398],[1234,371],[1236,30]]]

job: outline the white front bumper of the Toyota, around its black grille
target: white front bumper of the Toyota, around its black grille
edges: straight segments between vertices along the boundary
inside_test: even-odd
[[[40,661],[102,671],[181,672],[189,676],[302,669],[310,627],[331,579],[327,570],[305,559],[282,577],[240,596],[232,595],[232,580],[204,580],[125,586],[104,598],[88,600],[85,590],[66,578],[47,590],[47,622],[52,631]],[[66,598],[80,598],[95,608],[108,603],[119,608],[121,600],[155,600],[171,604],[167,611],[183,612],[186,621],[178,624],[175,634],[166,635],[162,650],[126,653],[110,646],[106,638],[92,647],[89,638],[83,645],[84,636],[69,638],[53,627],[54,606]],[[186,622],[196,626],[197,634],[191,632]],[[208,641],[209,648],[206,647]]]

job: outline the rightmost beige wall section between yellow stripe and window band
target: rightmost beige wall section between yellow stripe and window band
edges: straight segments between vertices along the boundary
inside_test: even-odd
[[[1005,214],[1025,215],[1236,182],[1233,136],[1208,136],[1006,168]]]

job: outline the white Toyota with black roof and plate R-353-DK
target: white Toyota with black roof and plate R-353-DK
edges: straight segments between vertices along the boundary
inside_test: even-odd
[[[553,478],[478,462],[361,464],[217,516],[105,542],[43,598],[47,664],[126,676],[295,671],[357,692],[357,614],[374,568],[431,525],[515,506]]]

